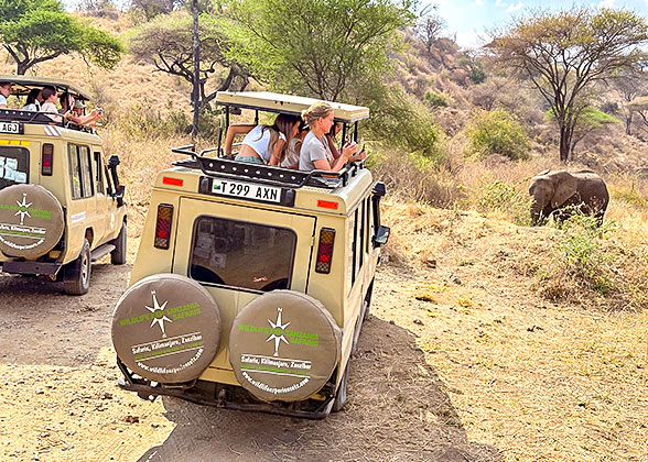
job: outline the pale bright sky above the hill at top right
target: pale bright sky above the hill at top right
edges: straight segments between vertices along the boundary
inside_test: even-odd
[[[572,4],[592,8],[615,8],[634,10],[648,18],[648,0],[434,0],[436,14],[447,24],[446,34],[454,36],[464,48],[475,48],[486,42],[488,29],[508,24],[516,15],[523,15],[533,9],[560,10]]]

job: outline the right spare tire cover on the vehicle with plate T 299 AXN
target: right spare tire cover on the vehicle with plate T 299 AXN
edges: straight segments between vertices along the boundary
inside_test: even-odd
[[[295,402],[318,392],[339,362],[342,330],[316,299],[274,290],[235,318],[229,362],[244,388],[266,402]]]

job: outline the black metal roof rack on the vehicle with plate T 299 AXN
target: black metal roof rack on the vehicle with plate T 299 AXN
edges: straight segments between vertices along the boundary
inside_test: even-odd
[[[173,147],[171,151],[185,154],[191,158],[173,162],[173,165],[185,168],[198,168],[205,175],[220,178],[238,178],[251,183],[270,186],[301,188],[312,186],[316,188],[335,189],[346,186],[355,166],[345,166],[339,172],[330,170],[295,170],[270,165],[257,165],[246,162],[231,161],[224,157],[206,157],[205,154],[217,151],[217,147],[196,153],[194,145]]]

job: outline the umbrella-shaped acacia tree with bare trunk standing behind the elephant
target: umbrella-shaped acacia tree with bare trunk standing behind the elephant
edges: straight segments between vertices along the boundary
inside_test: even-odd
[[[574,7],[534,11],[490,35],[487,47],[529,78],[551,106],[560,129],[560,160],[566,162],[587,91],[640,59],[648,26],[631,11]]]

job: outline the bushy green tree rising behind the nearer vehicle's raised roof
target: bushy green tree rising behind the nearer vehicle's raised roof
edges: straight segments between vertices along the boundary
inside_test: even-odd
[[[230,0],[230,55],[283,91],[335,100],[349,82],[381,75],[396,31],[414,20],[402,0]]]

